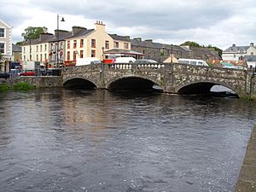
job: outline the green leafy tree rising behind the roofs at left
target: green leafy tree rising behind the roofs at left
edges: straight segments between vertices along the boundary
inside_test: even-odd
[[[41,33],[47,32],[48,28],[45,26],[28,26],[24,30],[24,32],[21,33],[21,36],[24,39],[37,39],[40,37]]]

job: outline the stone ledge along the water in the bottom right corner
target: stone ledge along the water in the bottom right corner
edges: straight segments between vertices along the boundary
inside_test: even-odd
[[[236,192],[256,191],[256,125],[247,145],[247,152],[236,184]]]

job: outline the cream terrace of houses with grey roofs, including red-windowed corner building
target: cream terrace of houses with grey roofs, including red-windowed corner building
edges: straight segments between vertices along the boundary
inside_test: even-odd
[[[55,30],[55,35],[44,33],[38,39],[27,41],[22,46],[22,58],[23,61],[48,63],[50,67],[73,66],[78,57],[103,60],[108,57],[105,52],[109,50],[131,50],[130,40],[120,37],[115,35],[113,38],[106,32],[106,25],[96,21],[94,29],[73,26],[72,32]]]

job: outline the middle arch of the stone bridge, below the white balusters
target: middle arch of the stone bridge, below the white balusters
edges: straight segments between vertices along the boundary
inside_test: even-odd
[[[160,82],[155,79],[145,78],[139,75],[125,75],[111,79],[106,84],[108,90],[154,90],[153,86]]]

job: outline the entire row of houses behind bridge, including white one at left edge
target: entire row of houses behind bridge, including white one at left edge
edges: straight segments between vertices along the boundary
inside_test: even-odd
[[[9,61],[41,61],[49,67],[73,66],[78,57],[96,57],[99,60],[116,56],[133,56],[136,59],[165,61],[170,55],[176,58],[217,59],[218,53],[211,49],[195,49],[172,44],[154,43],[129,36],[106,32],[106,25],[96,21],[94,29],[73,26],[72,31],[55,30],[55,34],[43,33],[38,39],[26,39],[21,46],[20,59],[14,56],[11,44],[11,26],[0,20],[0,53]],[[8,35],[7,35],[8,33]],[[5,39],[5,41],[4,41]],[[15,48],[17,49],[17,48]]]

